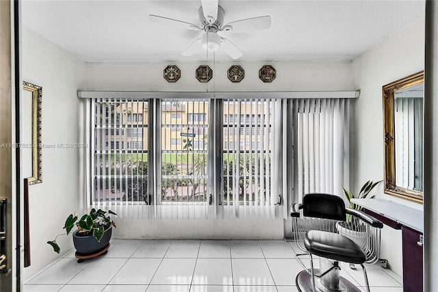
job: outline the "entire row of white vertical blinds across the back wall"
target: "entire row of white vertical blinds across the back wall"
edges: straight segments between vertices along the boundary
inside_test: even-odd
[[[348,186],[348,99],[92,105],[90,204],[121,217],[287,219],[303,194]]]

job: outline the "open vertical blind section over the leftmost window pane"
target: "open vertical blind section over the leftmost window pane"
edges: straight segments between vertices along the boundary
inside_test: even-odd
[[[96,99],[91,141],[91,201],[121,217],[141,218],[148,204],[148,102]]]

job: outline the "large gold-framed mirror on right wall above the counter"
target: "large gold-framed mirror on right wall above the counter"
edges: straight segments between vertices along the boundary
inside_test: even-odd
[[[385,193],[422,204],[424,71],[383,86]]]

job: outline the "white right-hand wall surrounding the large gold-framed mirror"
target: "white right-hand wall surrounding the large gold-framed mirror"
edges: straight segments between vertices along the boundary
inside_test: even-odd
[[[354,87],[360,98],[352,101],[350,136],[351,185],[359,191],[368,180],[384,178],[383,97],[382,86],[424,70],[424,16],[413,21],[380,45],[352,62]],[[413,208],[422,205],[385,195],[383,184],[376,197],[390,199]],[[402,238],[400,230],[385,226],[381,258],[402,275]]]

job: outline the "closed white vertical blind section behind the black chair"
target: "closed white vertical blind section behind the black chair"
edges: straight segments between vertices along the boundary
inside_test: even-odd
[[[342,196],[349,181],[348,99],[296,99],[294,201],[306,193]]]

